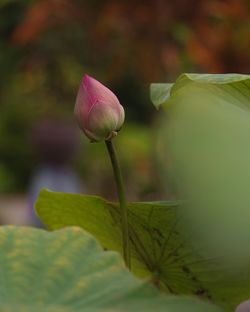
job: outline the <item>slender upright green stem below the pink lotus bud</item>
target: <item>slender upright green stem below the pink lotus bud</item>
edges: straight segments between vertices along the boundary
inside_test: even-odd
[[[130,248],[129,248],[128,212],[127,212],[127,203],[126,203],[126,198],[125,198],[122,174],[121,174],[120,165],[119,165],[116,151],[112,144],[112,141],[105,141],[105,143],[106,143],[109,157],[112,163],[117,193],[118,193],[119,202],[120,202],[123,257],[124,257],[125,264],[130,269],[131,263],[130,263]]]

